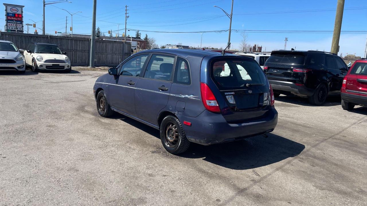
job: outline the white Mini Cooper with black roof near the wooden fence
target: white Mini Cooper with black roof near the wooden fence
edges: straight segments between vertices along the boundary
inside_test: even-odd
[[[32,42],[24,51],[24,57],[26,65],[31,66],[34,72],[38,70],[71,71],[69,57],[55,44]]]

